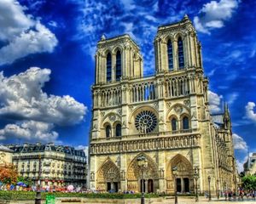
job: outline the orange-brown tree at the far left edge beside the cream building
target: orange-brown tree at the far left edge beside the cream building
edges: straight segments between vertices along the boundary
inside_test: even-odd
[[[3,184],[16,184],[18,171],[13,164],[3,164],[0,166],[0,181]]]

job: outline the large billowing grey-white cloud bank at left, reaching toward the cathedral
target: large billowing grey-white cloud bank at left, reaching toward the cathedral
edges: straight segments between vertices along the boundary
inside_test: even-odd
[[[56,139],[55,125],[74,125],[84,119],[87,107],[73,97],[48,95],[43,89],[49,82],[49,69],[32,67],[19,75],[4,77],[0,72],[0,118],[16,121],[0,130],[23,139]]]

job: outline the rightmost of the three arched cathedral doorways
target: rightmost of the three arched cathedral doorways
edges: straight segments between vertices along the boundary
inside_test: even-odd
[[[173,167],[177,167],[176,177],[172,173]],[[189,160],[180,154],[173,156],[167,167],[166,192],[175,191],[175,178],[177,192],[187,193],[192,190],[193,184],[190,181],[193,180],[193,167]]]

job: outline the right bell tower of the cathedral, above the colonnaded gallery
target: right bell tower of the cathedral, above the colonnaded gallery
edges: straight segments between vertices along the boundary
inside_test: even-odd
[[[188,15],[179,23],[158,28],[154,50],[157,73],[202,67],[201,43]]]

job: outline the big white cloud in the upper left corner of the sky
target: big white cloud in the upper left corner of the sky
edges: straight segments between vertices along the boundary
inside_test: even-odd
[[[0,1],[0,65],[11,64],[28,54],[52,52],[58,41],[25,7],[15,0]]]

